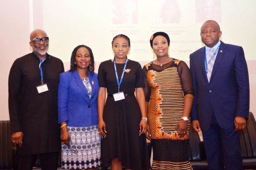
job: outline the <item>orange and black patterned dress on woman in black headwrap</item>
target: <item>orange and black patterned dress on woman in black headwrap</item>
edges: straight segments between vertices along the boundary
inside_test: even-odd
[[[185,97],[193,97],[192,79],[189,68],[186,63],[177,59],[163,65],[154,65],[148,63],[143,68],[145,77],[145,96],[148,102],[148,125],[150,127],[151,140],[166,140],[169,142],[188,143],[189,133],[181,137],[176,131],[176,125],[183,116]],[[190,119],[187,124],[189,132]],[[164,149],[155,149],[153,146],[153,154],[164,155],[167,153],[159,153]],[[183,147],[184,144],[177,145]],[[187,146],[185,144],[185,146]],[[187,146],[188,147],[188,146]],[[177,148],[178,149],[178,148]],[[187,149],[185,148],[186,153]],[[176,152],[174,150],[174,152]],[[179,152],[177,150],[177,152]],[[186,155],[186,154],[185,154]],[[182,156],[181,156],[182,157]],[[186,158],[186,156],[184,156]],[[160,170],[191,170],[191,164],[188,159],[186,161],[172,162],[154,160],[151,169]]]

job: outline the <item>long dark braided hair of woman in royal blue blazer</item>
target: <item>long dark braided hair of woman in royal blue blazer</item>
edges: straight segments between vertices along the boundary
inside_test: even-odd
[[[70,70],[69,71],[75,71],[76,70],[76,64],[75,64],[75,58],[76,58],[76,52],[78,51],[79,48],[84,47],[86,48],[89,53],[90,53],[90,59],[91,59],[91,63],[89,65],[89,71],[94,74],[94,57],[93,57],[93,51],[92,49],[90,49],[90,47],[87,47],[86,45],[78,45],[72,52],[71,54],[71,59],[70,59]]]

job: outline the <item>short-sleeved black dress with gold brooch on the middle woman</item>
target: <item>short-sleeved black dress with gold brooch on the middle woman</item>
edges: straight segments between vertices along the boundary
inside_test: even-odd
[[[116,64],[120,79],[125,64]],[[102,62],[98,72],[99,87],[107,88],[103,119],[106,124],[107,137],[102,139],[102,164],[118,158],[124,168],[148,170],[149,154],[145,134],[139,136],[141,120],[140,107],[134,95],[135,88],[144,87],[143,72],[138,62],[128,60],[120,92],[128,94],[123,100],[114,101],[111,94],[118,92],[114,63]]]

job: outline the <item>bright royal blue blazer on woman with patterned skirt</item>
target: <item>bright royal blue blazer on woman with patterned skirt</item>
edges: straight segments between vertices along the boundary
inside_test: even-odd
[[[97,98],[99,82],[96,73],[87,71],[92,86],[90,99],[77,70],[60,74],[58,84],[58,123],[66,121],[68,126],[84,127],[98,124]]]

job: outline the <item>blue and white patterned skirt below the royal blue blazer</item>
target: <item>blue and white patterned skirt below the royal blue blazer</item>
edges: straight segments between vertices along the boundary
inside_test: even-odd
[[[98,125],[89,127],[67,126],[70,146],[62,144],[62,169],[89,169],[101,164],[101,137]]]

